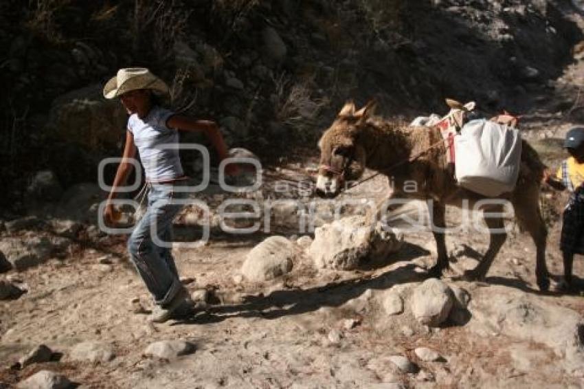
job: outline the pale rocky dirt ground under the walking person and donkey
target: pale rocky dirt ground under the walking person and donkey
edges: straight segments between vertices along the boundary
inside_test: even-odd
[[[579,71],[574,66],[563,79],[581,80]],[[561,133],[569,125],[557,115],[546,128]],[[559,162],[553,134],[526,135],[546,146],[541,153],[551,165]],[[262,198],[287,197],[276,180],[306,179],[316,162],[316,153],[304,154],[266,170]],[[388,184],[377,177],[344,199],[370,199],[385,190]],[[356,258],[352,262],[335,262],[326,256],[331,247],[359,247],[358,234],[299,234],[289,203],[274,206],[269,234],[225,234],[213,219],[207,245],[173,250],[186,287],[207,310],[150,324],[152,302],[128,263],[125,236],[89,226],[99,196],[93,184],[76,186],[49,207],[58,210],[52,219],[3,223],[0,250],[18,267],[0,283],[0,382],[8,387],[37,387],[27,381],[33,379],[41,388],[63,387],[66,379],[87,388],[584,385],[584,300],[578,293],[537,291],[535,247],[515,228],[485,282],[456,277],[477,263],[486,234],[450,234],[451,270],[439,282],[425,276],[434,261],[430,232],[396,230],[386,239],[392,254],[363,261],[357,253],[345,257]],[[216,209],[227,195],[212,186],[199,198]],[[550,222],[548,267],[559,275],[563,198],[552,192],[542,198]],[[325,208],[317,207],[317,225],[330,217]],[[186,208],[177,236],[199,231],[199,220]],[[460,211],[449,210],[449,221],[458,220]],[[249,223],[238,225],[244,226]],[[583,276],[581,260],[574,273]]]

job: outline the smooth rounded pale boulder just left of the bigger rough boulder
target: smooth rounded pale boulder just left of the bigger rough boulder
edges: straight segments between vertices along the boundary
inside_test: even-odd
[[[289,273],[296,251],[284,236],[270,236],[251,249],[241,267],[241,274],[251,281],[266,281]]]

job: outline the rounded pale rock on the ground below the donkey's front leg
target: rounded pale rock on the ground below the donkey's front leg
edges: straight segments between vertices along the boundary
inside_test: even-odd
[[[439,326],[448,318],[453,302],[451,289],[444,282],[429,278],[412,293],[412,313],[420,324]]]

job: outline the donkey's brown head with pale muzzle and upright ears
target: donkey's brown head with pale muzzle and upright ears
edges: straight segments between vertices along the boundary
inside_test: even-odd
[[[365,148],[359,135],[367,126],[367,119],[375,109],[370,101],[356,111],[353,102],[347,102],[318,142],[320,166],[316,192],[321,197],[336,197],[348,181],[356,180],[365,170]]]

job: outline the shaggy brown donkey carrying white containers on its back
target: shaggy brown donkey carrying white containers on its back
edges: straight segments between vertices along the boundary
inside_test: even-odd
[[[450,125],[460,128],[469,107],[453,100],[449,101],[449,105],[451,111],[445,119]],[[440,228],[432,229],[438,258],[436,265],[429,269],[429,275],[439,278],[449,265],[443,233],[446,205],[460,208],[466,203],[472,206],[487,197],[458,186],[448,167],[445,157],[447,143],[441,142],[443,138],[438,126],[401,126],[374,117],[374,106],[374,102],[369,102],[357,111],[355,104],[347,102],[322,135],[318,142],[321,156],[317,194],[336,197],[346,183],[359,179],[365,168],[370,168],[388,179],[392,178],[394,190],[390,197],[431,200],[428,202],[432,205],[428,207],[429,220],[431,225]],[[517,222],[535,242],[537,285],[541,291],[546,291],[550,285],[546,268],[547,228],[539,211],[540,183],[545,168],[535,150],[523,141],[515,190],[496,197],[513,204]],[[415,181],[417,190],[404,190],[405,181]],[[502,205],[490,205],[484,209],[499,214],[502,210]],[[378,216],[381,215],[375,217]],[[503,218],[493,217],[493,214],[483,216],[490,231],[490,242],[480,263],[465,272],[464,278],[467,280],[484,279],[506,241],[506,233],[500,232],[504,231]]]

